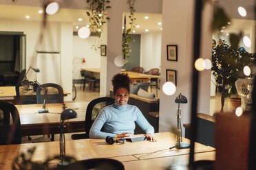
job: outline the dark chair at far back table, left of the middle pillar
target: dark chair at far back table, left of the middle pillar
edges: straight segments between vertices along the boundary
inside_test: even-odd
[[[99,88],[100,80],[93,77],[92,72],[81,70],[81,76],[83,78],[83,91],[85,90],[85,84],[89,85],[89,89],[91,89],[91,87],[93,90]]]

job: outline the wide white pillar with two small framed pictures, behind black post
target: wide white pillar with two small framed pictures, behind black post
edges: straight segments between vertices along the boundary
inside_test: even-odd
[[[182,123],[190,122],[191,115],[191,87],[193,67],[193,6],[194,1],[162,2],[162,61],[161,86],[166,82],[166,69],[177,71],[177,90],[172,96],[160,92],[160,132],[171,131],[176,126],[176,109],[178,104],[174,100],[180,93],[186,96],[188,104],[181,104]],[[206,18],[209,21],[211,19]],[[207,20],[206,20],[207,21]],[[204,21],[203,25],[208,23]],[[206,32],[207,31],[207,32]],[[211,57],[211,32],[202,29],[201,57]],[[178,45],[178,62],[167,61],[167,45]],[[200,94],[198,95],[198,112],[209,114],[210,103],[210,71],[200,73]],[[183,130],[184,132],[184,130]],[[183,133],[184,134],[184,133]]]

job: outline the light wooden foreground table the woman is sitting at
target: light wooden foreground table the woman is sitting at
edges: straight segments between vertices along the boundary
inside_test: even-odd
[[[104,139],[82,139],[66,141],[66,155],[74,156],[77,160],[88,158],[113,158],[125,165],[125,169],[164,169],[176,158],[188,162],[189,149],[169,149],[176,143],[175,134],[161,132],[155,134],[158,142],[141,141],[137,143],[125,143],[106,145]],[[183,138],[189,143],[189,140]],[[26,143],[20,145],[0,146],[0,167],[11,169],[12,160],[21,152],[36,147],[33,156],[35,161],[43,161],[49,156],[58,155],[58,141],[47,143]],[[215,148],[195,143],[195,159],[215,158]],[[160,161],[160,162],[159,162]],[[148,164],[148,165],[147,165]]]

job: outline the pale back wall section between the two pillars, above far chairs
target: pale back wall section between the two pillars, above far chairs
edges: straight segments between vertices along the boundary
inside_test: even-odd
[[[143,33],[140,36],[140,66],[144,71],[160,69],[162,33]]]

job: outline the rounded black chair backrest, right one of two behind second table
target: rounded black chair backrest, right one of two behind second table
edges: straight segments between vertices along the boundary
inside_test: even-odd
[[[36,88],[37,104],[43,104],[44,99],[47,104],[63,103],[63,88],[54,83],[41,84],[38,88]]]

